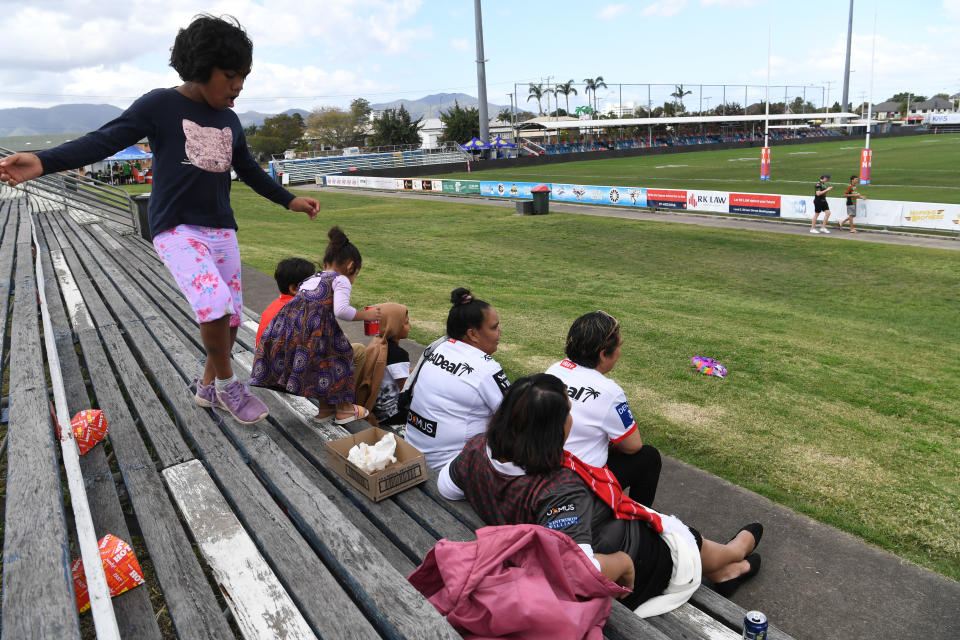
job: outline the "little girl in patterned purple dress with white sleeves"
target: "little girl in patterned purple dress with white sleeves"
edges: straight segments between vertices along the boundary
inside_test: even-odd
[[[333,415],[346,424],[369,415],[353,404],[353,349],[337,319],[379,320],[379,306],[350,306],[353,281],[363,262],[340,227],[327,234],[324,270],[302,283],[293,300],[267,325],[257,347],[250,384],[325,403],[317,419]]]

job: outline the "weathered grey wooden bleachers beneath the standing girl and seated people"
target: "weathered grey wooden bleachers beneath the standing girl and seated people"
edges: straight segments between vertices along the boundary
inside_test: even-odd
[[[325,443],[347,431],[311,421],[301,398],[258,391],[271,415],[254,426],[197,407],[196,323],[152,246],[31,206],[0,200],[0,269],[15,276],[3,311],[13,318],[3,637],[79,637],[82,626],[31,294],[31,215],[71,415],[94,406],[110,422],[81,458],[97,536],[134,542],[150,568],[144,587],[113,601],[123,637],[459,637],[405,577],[438,539],[474,539],[472,510],[429,481],[371,502],[327,465]],[[248,314],[238,334],[241,377],[256,320]],[[743,614],[701,589],[650,620],[614,603],[605,635],[736,638]]]

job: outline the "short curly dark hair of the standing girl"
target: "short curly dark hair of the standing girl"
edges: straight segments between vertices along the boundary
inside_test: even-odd
[[[196,16],[170,49],[170,66],[184,82],[206,82],[214,67],[246,74],[252,64],[253,43],[233,16]]]

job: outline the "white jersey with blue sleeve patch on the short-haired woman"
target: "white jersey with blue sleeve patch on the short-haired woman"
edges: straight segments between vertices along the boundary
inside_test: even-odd
[[[637,428],[623,389],[596,369],[567,359],[550,365],[547,373],[563,380],[570,396],[573,428],[563,448],[593,467],[607,464],[610,443]]]

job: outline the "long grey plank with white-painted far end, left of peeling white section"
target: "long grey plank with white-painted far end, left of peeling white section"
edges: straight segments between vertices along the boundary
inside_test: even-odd
[[[74,331],[79,338],[97,404],[107,415],[110,425],[107,437],[138,516],[144,543],[163,589],[171,621],[183,638],[233,638],[117,386],[99,332],[81,295],[82,290],[91,292],[94,289],[72,247],[60,244],[60,230],[55,226],[41,226],[46,227],[51,262],[57,271],[60,289],[68,301],[67,308],[71,311]],[[87,296],[91,301],[95,297]],[[115,326],[113,328],[116,329]]]

